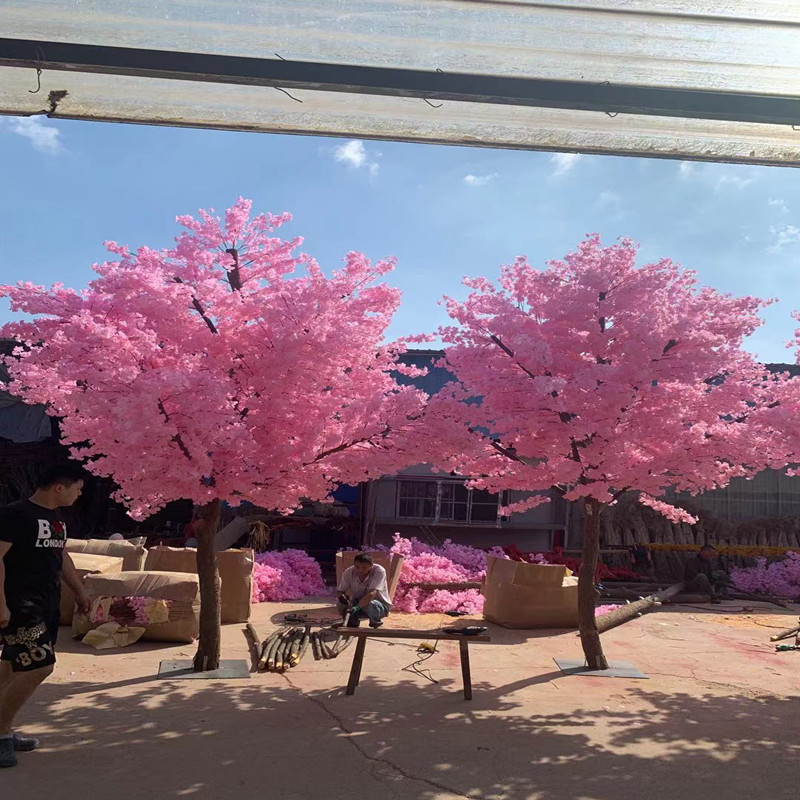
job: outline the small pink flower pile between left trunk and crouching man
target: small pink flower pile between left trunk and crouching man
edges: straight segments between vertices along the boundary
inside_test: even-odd
[[[326,593],[319,563],[302,550],[259,553],[253,569],[253,602],[300,600]]]

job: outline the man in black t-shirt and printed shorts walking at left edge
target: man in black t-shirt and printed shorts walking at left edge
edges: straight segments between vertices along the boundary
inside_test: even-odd
[[[77,464],[51,467],[29,500],[0,509],[0,767],[16,766],[16,752],[38,745],[12,725],[53,671],[62,577],[80,610],[89,610],[58,512],[80,497],[83,479]]]

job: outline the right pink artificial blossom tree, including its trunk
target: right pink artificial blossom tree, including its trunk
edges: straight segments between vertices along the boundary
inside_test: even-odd
[[[786,465],[772,425],[784,388],[742,349],[764,305],[698,286],[669,260],[637,267],[637,248],[588,237],[564,261],[504,267],[495,286],[465,281],[440,330],[456,381],[429,406],[446,436],[440,466],[492,492],[555,489],[585,515],[580,636],[607,665],[594,614],[600,516],[624,492],[673,521],[658,498],[696,493]],[[522,510],[546,502],[538,494]]]

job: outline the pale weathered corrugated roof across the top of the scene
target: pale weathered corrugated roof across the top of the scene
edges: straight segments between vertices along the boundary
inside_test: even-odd
[[[0,31],[31,45],[30,68],[0,68],[0,113],[46,112],[49,93],[66,91],[56,116],[800,163],[800,133],[787,124],[800,115],[795,0],[5,0]],[[33,67],[48,58],[35,42],[288,59],[314,66],[317,88],[313,78],[285,94],[209,82],[231,75],[182,81],[88,74],[84,65],[46,68],[42,91],[30,94]],[[394,96],[332,91],[328,65],[392,71]],[[427,74],[431,102],[409,96],[411,71]],[[437,100],[438,84],[463,75],[555,83],[537,95],[542,107],[495,105],[486,93]],[[613,114],[604,98],[628,113],[585,110]],[[669,110],[675,103],[682,112]]]

